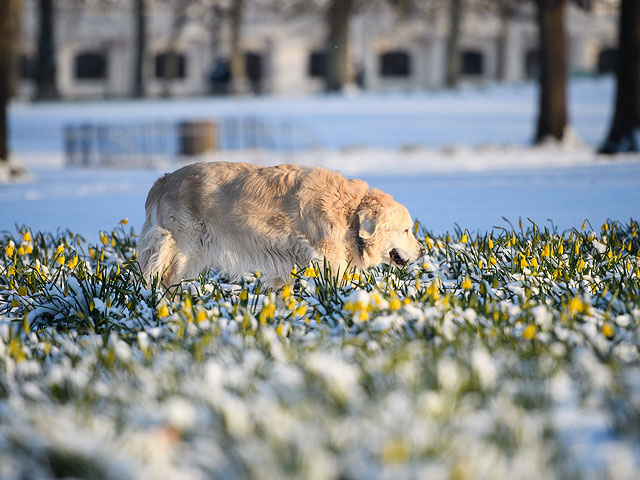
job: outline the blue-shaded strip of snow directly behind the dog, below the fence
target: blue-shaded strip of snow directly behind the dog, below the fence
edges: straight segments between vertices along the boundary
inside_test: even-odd
[[[531,218],[548,226],[547,219],[551,219],[560,230],[581,225],[585,218],[600,225],[607,218],[638,217],[640,162],[631,157],[598,159],[588,151],[566,156],[564,163],[563,152],[554,148],[514,148],[457,154],[362,150],[281,156],[238,152],[216,158],[342,170],[391,193],[436,233],[450,231],[455,224],[471,231],[490,231],[493,226],[507,226],[503,216],[512,222],[518,217]],[[483,163],[478,165],[478,161]],[[149,188],[164,171],[177,167],[86,170],[34,166],[29,180],[0,186],[0,230],[12,230],[15,224],[52,232],[69,228],[95,240],[98,230],[122,218],[139,230]]]

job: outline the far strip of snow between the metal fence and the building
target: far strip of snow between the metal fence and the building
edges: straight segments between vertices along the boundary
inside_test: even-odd
[[[570,83],[570,122],[587,144],[603,140],[613,95],[612,78]],[[350,146],[439,148],[529,144],[536,109],[536,87],[526,83],[386,95],[17,103],[11,108],[10,122],[11,143],[18,153],[61,152],[62,128],[67,124],[132,125],[248,116],[299,126],[311,143],[331,150]]]

